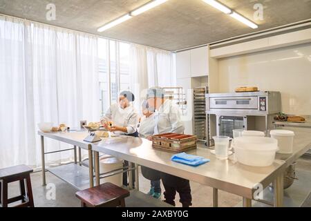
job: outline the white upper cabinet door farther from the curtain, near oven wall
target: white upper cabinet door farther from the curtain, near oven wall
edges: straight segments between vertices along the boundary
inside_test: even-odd
[[[208,75],[208,53],[209,50],[207,46],[190,50],[191,77],[202,77]]]

